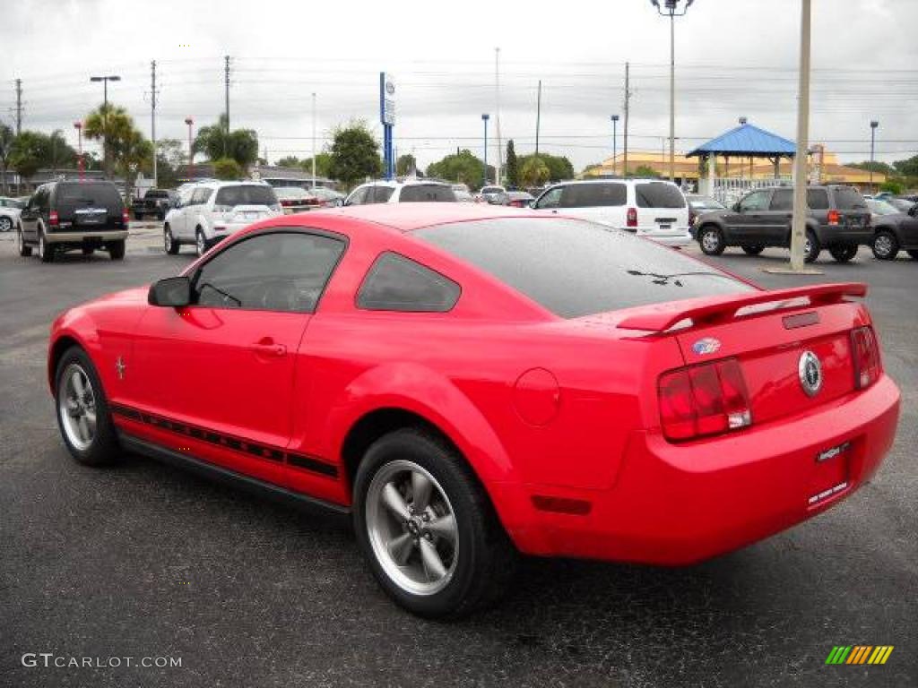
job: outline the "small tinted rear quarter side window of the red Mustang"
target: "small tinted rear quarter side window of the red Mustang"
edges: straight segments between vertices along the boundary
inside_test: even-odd
[[[445,313],[459,299],[459,285],[397,253],[373,263],[357,294],[357,307],[374,311]]]

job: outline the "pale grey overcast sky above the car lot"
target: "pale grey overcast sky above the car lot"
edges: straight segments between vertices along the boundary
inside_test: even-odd
[[[661,0],[662,4],[662,0]],[[916,0],[813,0],[811,142],[842,160],[918,152]],[[794,138],[800,0],[697,0],[677,19],[677,150],[737,117]],[[630,147],[660,150],[668,133],[668,19],[649,0],[565,2],[5,2],[0,17],[0,119],[12,124],[22,79],[23,126],[62,128],[102,100],[92,74],[116,73],[109,100],[150,135],[150,62],[156,60],[158,138],[186,139],[184,120],[223,110],[231,57],[232,128],[254,128],[271,161],[308,156],[310,94],[318,94],[319,149],[352,118],[378,124],[378,74],[397,84],[396,146],[420,165],[457,146],[480,155],[481,114],[496,137],[495,48],[500,48],[501,137],[540,148],[577,170],[611,152],[632,63]],[[621,121],[619,123],[621,150]],[[494,160],[496,149],[489,151]]]

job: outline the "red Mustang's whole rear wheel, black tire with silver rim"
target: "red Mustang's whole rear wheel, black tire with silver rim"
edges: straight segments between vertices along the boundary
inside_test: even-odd
[[[364,558],[409,612],[458,618],[506,590],[516,550],[475,474],[441,438],[404,428],[376,440],[353,494]]]

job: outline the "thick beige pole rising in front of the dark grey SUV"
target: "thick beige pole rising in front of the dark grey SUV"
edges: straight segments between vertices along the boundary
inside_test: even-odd
[[[794,210],[790,225],[790,270],[803,269],[806,231],[806,155],[810,138],[810,0],[800,0],[800,74],[797,95],[797,152],[794,155]]]

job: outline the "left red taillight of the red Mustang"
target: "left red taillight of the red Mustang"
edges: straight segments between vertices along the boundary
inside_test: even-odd
[[[736,359],[666,372],[658,392],[666,438],[698,438],[752,425],[749,393]]]

